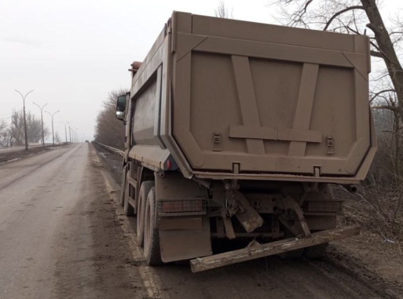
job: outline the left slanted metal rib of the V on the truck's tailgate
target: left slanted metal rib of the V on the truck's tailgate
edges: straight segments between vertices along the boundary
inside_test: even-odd
[[[243,124],[259,128],[260,119],[259,112],[257,111],[249,58],[247,56],[232,55],[231,59]],[[246,139],[246,145],[250,154],[264,155],[263,140]]]

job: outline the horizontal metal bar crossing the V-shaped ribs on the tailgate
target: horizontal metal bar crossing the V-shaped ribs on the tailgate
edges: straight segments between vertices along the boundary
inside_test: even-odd
[[[230,126],[230,137],[316,143],[322,142],[322,133],[319,131],[266,127],[255,128],[251,126]]]

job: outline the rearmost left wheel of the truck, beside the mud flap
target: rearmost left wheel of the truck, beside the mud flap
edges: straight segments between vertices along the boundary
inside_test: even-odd
[[[144,219],[144,257],[150,266],[162,264],[159,232],[155,228],[156,202],[155,187],[152,187],[147,196]]]

